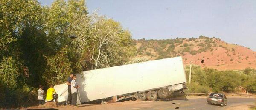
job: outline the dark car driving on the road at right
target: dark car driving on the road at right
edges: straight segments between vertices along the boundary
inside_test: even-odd
[[[211,93],[207,97],[207,104],[227,105],[227,97],[221,93]]]

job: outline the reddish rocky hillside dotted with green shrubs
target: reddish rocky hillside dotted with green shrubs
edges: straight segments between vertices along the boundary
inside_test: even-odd
[[[199,66],[218,70],[240,70],[256,67],[256,52],[237,44],[229,44],[219,38],[176,38],[166,40],[134,40],[137,58],[156,60],[182,56],[184,64],[190,61]],[[204,63],[201,63],[204,60]]]

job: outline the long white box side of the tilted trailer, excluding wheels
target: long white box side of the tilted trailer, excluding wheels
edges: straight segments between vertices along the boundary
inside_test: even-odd
[[[81,102],[186,82],[181,57],[84,71],[78,75]]]

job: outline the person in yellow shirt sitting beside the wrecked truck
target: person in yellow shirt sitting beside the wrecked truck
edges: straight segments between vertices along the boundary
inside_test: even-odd
[[[50,85],[50,88],[47,89],[46,100],[52,102],[55,99],[55,103],[58,103],[58,94],[55,92],[53,85]]]

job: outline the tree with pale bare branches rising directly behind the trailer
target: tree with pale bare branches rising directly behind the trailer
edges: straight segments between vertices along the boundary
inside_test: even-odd
[[[96,13],[81,16],[70,30],[78,36],[73,45],[81,53],[82,70],[121,65],[132,55],[130,33],[113,19]]]

